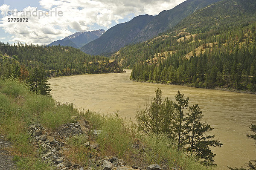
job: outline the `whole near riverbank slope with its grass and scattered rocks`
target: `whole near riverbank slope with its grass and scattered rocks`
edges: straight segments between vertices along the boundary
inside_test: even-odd
[[[118,115],[82,112],[17,81],[0,81],[0,101],[0,133],[12,142],[18,170],[215,169]]]

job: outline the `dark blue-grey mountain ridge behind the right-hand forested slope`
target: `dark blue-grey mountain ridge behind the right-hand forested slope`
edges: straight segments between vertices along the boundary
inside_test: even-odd
[[[91,54],[109,54],[130,44],[148,40],[175,26],[180,20],[220,0],[187,0],[157,16],[140,15],[131,21],[113,26],[100,38],[81,47],[81,51]]]

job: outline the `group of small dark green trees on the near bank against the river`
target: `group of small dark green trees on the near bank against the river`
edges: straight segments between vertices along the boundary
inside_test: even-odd
[[[155,92],[156,96],[148,102],[146,109],[140,109],[135,115],[139,130],[148,135],[163,134],[177,141],[177,151],[186,149],[190,156],[195,156],[202,164],[215,165],[215,154],[210,147],[221,147],[222,144],[218,140],[212,140],[214,135],[206,135],[212,128],[201,123],[203,114],[198,105],[189,107],[190,113],[185,114],[183,109],[189,106],[189,98],[185,99],[180,91],[175,95],[176,102],[169,101],[168,98],[162,102],[159,87]],[[170,107],[166,107],[168,105]]]

